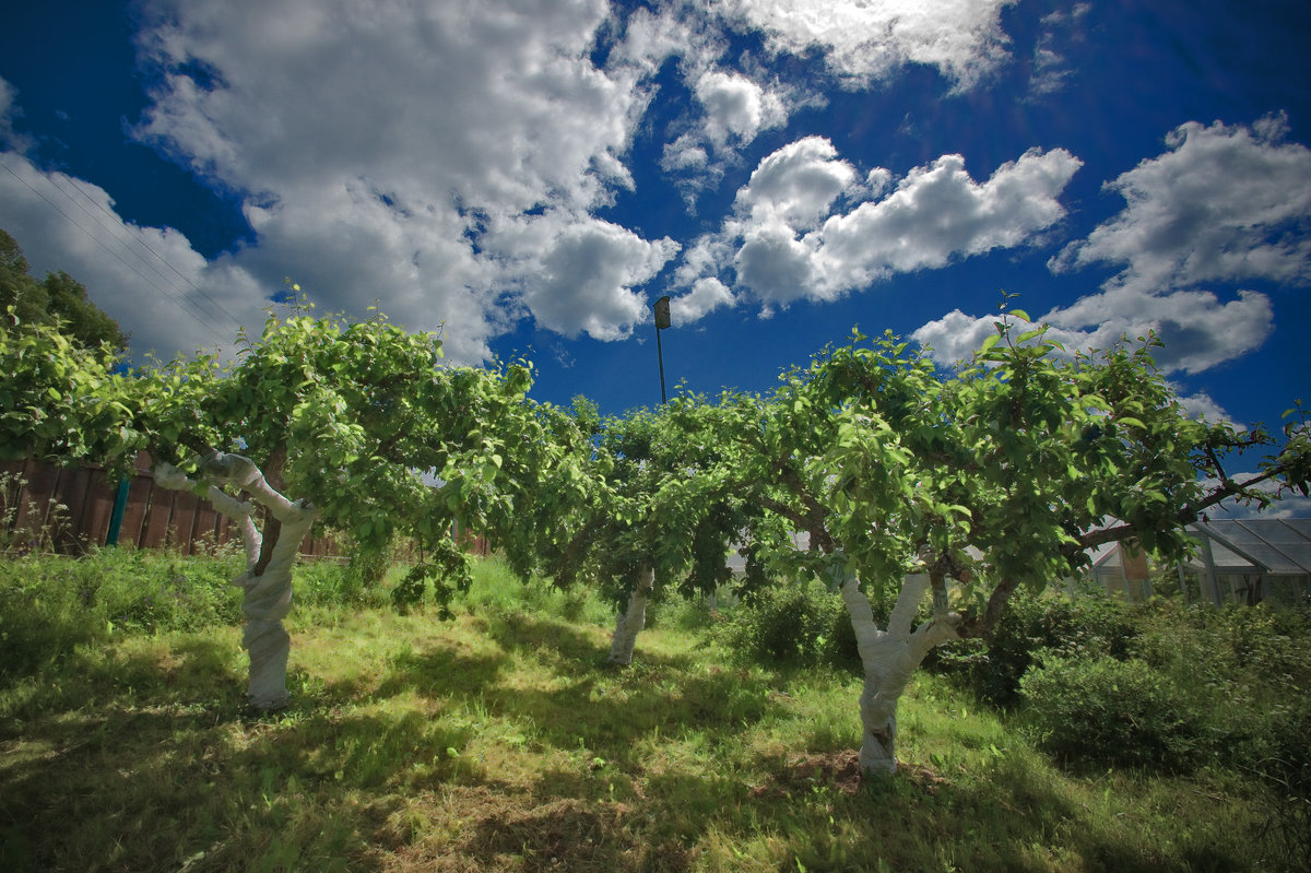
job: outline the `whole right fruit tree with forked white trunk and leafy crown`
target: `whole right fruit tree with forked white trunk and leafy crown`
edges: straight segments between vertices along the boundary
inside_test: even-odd
[[[1110,540],[1183,554],[1205,509],[1265,499],[1268,478],[1304,488],[1311,472],[1294,426],[1262,472],[1224,476],[1218,459],[1264,434],[1190,418],[1151,341],[1067,355],[1012,315],[1028,321],[1003,312],[948,374],[890,334],[856,334],[787,374],[759,426],[735,431],[738,494],[764,510],[751,548],[776,573],[827,574],[840,590],[864,667],[867,772],[895,768],[897,705],[928,651],[986,637],[1020,586],[1066,577]],[[871,596],[893,604],[881,627]]]

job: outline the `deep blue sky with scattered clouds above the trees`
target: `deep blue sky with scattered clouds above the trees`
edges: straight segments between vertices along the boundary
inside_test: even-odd
[[[7,5],[0,228],[135,357],[295,283],[617,414],[853,326],[950,366],[1004,290],[1207,418],[1311,402],[1303,0]]]

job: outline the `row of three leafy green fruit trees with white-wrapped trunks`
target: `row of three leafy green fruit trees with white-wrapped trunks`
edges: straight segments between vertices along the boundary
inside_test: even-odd
[[[450,530],[476,530],[520,574],[602,590],[617,665],[633,661],[652,598],[734,583],[738,551],[742,594],[815,577],[840,591],[864,671],[860,768],[890,772],[898,703],[932,649],[990,636],[1016,592],[1076,572],[1091,547],[1135,541],[1173,560],[1221,501],[1311,480],[1304,421],[1276,443],[1193,419],[1150,337],[1067,353],[1019,321],[1003,305],[996,334],[953,371],[853,333],[770,395],[603,418],[585,398],[531,401],[526,362],[446,366],[438,336],[383,317],[270,316],[231,360],[125,370],[108,345],[10,308],[0,442],[7,457],[119,471],[147,451],[160,484],[239,520],[257,708],[287,701],[282,619],[315,523],[362,561],[418,544],[393,590],[402,607],[467,585]],[[1257,473],[1226,475],[1251,451],[1268,452]]]

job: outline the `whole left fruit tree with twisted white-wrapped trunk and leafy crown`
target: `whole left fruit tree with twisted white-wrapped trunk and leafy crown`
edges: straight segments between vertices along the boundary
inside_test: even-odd
[[[231,360],[201,354],[131,374],[54,329],[7,325],[3,343],[16,374],[0,393],[9,451],[126,467],[148,450],[161,486],[237,520],[248,566],[233,583],[261,708],[287,697],[282,619],[315,520],[363,549],[413,537],[423,560],[400,596],[433,582],[440,599],[468,581],[451,523],[507,530],[543,450],[527,364],[443,366],[437,334],[383,317],[270,316]]]

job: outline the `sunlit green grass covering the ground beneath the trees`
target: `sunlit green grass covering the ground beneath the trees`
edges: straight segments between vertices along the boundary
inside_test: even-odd
[[[138,558],[94,560],[104,589]],[[26,633],[24,598],[76,629],[0,666],[5,870],[1262,869],[1235,773],[1070,775],[922,674],[901,771],[861,783],[857,678],[743,665],[659,620],[607,667],[603,606],[494,562],[444,623],[334,604],[332,572],[307,570],[320,595],[288,619],[274,714],[243,703],[227,592],[205,627],[109,628],[79,599],[85,565],[45,565],[69,596],[0,577],[5,632]]]

